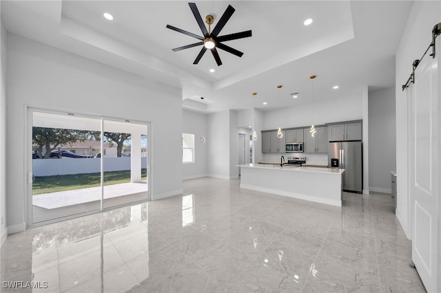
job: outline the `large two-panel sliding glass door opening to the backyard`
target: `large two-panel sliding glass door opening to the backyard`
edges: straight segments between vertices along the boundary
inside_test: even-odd
[[[30,109],[33,226],[148,199],[147,123]]]

